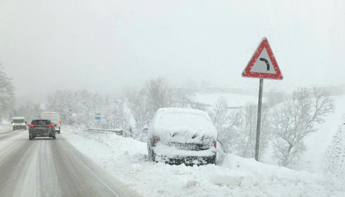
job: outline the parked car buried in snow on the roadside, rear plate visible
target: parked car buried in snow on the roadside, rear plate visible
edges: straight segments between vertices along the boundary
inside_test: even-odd
[[[215,163],[217,130],[206,112],[160,108],[148,129],[148,157],[180,165]]]

